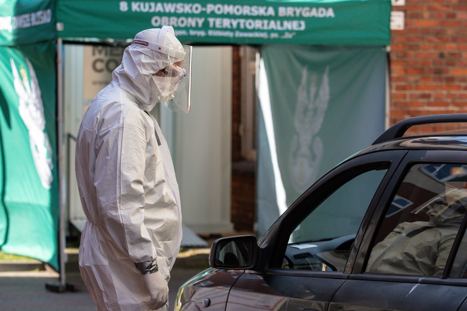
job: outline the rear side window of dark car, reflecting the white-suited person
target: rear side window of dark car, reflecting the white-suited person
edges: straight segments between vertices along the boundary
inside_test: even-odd
[[[441,277],[467,207],[467,166],[416,164],[374,237],[368,273]]]

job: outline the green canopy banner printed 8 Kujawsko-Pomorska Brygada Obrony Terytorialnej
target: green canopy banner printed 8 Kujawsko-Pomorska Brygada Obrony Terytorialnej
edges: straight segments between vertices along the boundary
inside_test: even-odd
[[[389,45],[390,0],[59,0],[58,36],[131,40],[173,26],[183,43]]]

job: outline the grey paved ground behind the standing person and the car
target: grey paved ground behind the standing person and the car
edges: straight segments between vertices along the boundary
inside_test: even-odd
[[[170,310],[174,308],[178,288],[189,278],[208,267],[209,249],[189,249],[175,263],[169,282]],[[31,270],[32,269],[32,270]],[[0,310],[21,311],[87,311],[96,310],[81,280],[76,259],[69,257],[66,267],[69,289],[55,293],[46,284],[59,284],[59,274],[43,268],[39,262],[0,263]]]

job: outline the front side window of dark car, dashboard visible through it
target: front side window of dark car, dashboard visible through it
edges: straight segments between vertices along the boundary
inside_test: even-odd
[[[364,170],[335,189],[289,237],[283,268],[344,271],[353,240],[387,165]]]

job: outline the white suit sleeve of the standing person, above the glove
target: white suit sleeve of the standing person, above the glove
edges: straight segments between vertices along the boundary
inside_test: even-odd
[[[145,129],[121,124],[100,133],[95,186],[107,240],[133,262],[148,262],[156,251],[144,226]]]

